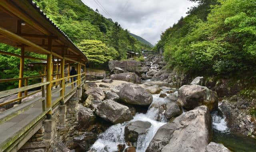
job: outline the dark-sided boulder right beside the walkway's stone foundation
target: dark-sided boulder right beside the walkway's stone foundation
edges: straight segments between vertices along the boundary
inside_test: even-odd
[[[78,123],[82,128],[88,128],[96,121],[96,116],[89,108],[78,104]]]

